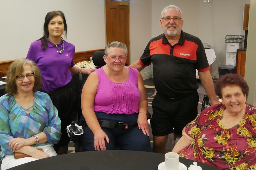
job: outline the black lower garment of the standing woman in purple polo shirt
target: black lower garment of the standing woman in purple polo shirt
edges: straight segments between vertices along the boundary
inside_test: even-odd
[[[79,90],[78,86],[71,80],[69,84],[50,93],[53,105],[58,110],[58,116],[61,119],[61,139],[54,145],[56,151],[59,147],[68,145],[70,138],[67,135],[67,126],[71,124],[71,114],[77,113],[79,108]]]

